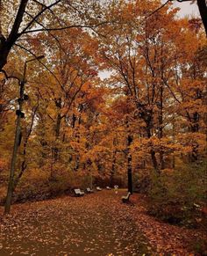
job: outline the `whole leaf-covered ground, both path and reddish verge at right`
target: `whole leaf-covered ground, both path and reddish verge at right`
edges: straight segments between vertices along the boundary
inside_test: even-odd
[[[146,213],[145,199],[124,190],[102,191],[83,197],[0,208],[0,255],[199,255],[192,244],[204,234],[168,223]]]

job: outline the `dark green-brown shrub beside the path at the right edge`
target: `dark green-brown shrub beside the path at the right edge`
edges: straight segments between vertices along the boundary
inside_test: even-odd
[[[151,174],[149,212],[169,223],[203,225],[206,200],[206,162]]]

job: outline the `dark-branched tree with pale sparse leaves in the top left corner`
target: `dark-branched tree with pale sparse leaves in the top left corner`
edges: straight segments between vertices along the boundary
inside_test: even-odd
[[[87,6],[88,4],[88,6]],[[44,31],[51,35],[54,40],[55,36],[51,32],[69,29],[72,27],[89,27],[96,29],[106,23],[98,13],[101,4],[96,1],[90,2],[62,1],[56,0],[52,4],[44,4],[39,1],[23,0],[20,3],[10,0],[0,3],[0,70],[7,63],[8,55],[12,48],[21,48],[18,43],[20,38],[25,36],[29,39],[37,38],[39,32]],[[90,6],[90,16],[86,13],[86,9]],[[15,18],[8,20],[7,13],[15,12]],[[60,17],[61,11],[68,13],[70,17],[69,23]],[[96,16],[98,18],[96,18]],[[12,15],[13,17],[13,15]],[[76,19],[76,22],[74,22]],[[107,21],[108,22],[108,21]],[[37,28],[37,26],[40,26]],[[8,31],[10,31],[8,33]],[[24,40],[25,41],[25,40]],[[26,48],[25,48],[26,50]],[[29,50],[29,49],[28,49]]]

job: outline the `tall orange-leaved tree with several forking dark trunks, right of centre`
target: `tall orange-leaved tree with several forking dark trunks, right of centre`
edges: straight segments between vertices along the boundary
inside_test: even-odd
[[[139,4],[120,5],[118,14],[112,10],[122,23],[118,22],[113,30],[107,27],[107,36],[100,40],[100,51],[104,67],[112,72],[112,86],[120,88],[122,98],[132,106],[132,116],[139,122],[139,131],[132,131],[132,135],[136,134],[140,140],[147,138],[153,168],[161,173],[167,166],[168,155],[178,149],[168,135],[168,128],[174,126],[172,110],[177,103],[174,100],[179,98],[174,93],[175,70],[199,48],[197,44],[190,47],[189,41],[197,37],[204,44],[204,40],[202,32],[194,30],[186,19],[176,20],[176,10],[168,11],[167,6],[143,22],[147,4],[143,3],[143,9]],[[149,6],[155,9],[156,4],[159,3]],[[179,36],[183,34],[181,31],[185,32],[183,38]],[[185,48],[185,55],[179,54],[181,48]],[[186,71],[189,74],[189,69]],[[167,142],[168,147],[164,145]]]

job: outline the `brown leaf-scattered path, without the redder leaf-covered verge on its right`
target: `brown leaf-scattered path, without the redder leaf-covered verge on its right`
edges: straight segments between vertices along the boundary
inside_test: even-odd
[[[113,191],[18,204],[0,224],[0,255],[142,255],[150,247]],[[2,209],[3,210],[3,209]],[[148,248],[147,248],[148,247]]]

